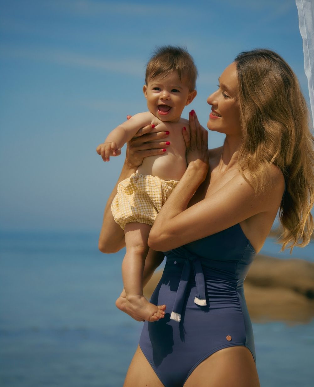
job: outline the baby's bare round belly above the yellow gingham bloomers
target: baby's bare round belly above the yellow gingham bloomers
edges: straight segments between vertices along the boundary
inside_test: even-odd
[[[162,180],[180,180],[186,169],[185,157],[168,153],[162,156],[146,157],[137,173],[158,176]]]

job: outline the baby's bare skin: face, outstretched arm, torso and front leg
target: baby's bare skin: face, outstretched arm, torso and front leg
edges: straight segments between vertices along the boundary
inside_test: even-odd
[[[97,152],[104,161],[109,161],[110,155],[117,156],[115,151],[131,140],[139,128],[150,123],[156,132],[165,131],[169,140],[166,145],[171,144],[171,148],[163,158],[158,154],[158,157],[145,159],[137,173],[158,176],[164,180],[180,180],[187,166],[182,127],[189,128],[181,114],[196,96],[196,91],[190,91],[187,77],[180,79],[177,72],[170,72],[148,79],[143,92],[149,111],[138,113],[113,129],[105,143],[97,147]],[[142,294],[142,274],[149,249],[147,241],[150,229],[151,225],[137,221],[125,225],[126,254],[122,262],[124,290],[116,306],[138,321],[154,322],[165,316],[166,306],[153,305]]]

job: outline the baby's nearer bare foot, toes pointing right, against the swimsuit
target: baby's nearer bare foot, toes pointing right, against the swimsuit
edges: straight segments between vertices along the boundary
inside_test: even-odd
[[[125,308],[127,313],[137,316],[140,319],[150,322],[165,317],[166,305],[154,305],[146,300],[144,296],[127,296]]]

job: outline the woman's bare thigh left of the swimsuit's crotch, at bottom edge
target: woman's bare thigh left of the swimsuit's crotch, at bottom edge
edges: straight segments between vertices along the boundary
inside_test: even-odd
[[[139,346],[127,371],[124,387],[163,387]]]

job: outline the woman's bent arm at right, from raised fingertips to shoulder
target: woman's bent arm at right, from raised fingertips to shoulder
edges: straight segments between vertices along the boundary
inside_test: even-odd
[[[281,200],[281,186],[276,184],[280,171],[271,170],[272,192],[255,194],[242,175],[236,175],[220,190],[187,208],[190,199],[208,172],[207,137],[197,117],[190,116],[189,165],[175,190],[161,208],[149,234],[148,245],[167,251],[229,228],[260,212],[273,209]],[[183,132],[184,133],[184,132]],[[185,139],[187,135],[184,134]],[[188,144],[187,144],[188,145]],[[274,194],[274,195],[273,195]],[[272,198],[272,200],[270,200]]]

